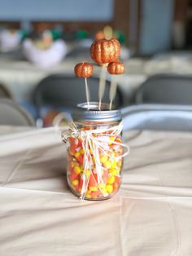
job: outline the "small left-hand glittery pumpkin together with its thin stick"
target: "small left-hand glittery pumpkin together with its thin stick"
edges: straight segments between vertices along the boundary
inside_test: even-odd
[[[83,77],[85,78],[85,92],[86,92],[86,100],[87,100],[87,106],[89,109],[89,87],[87,83],[87,78],[91,77],[94,73],[94,66],[88,62],[82,62],[79,64],[76,64],[74,68],[74,72],[77,77]]]

